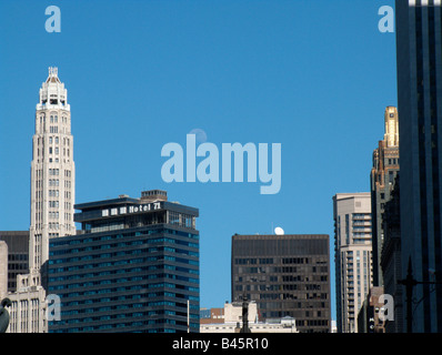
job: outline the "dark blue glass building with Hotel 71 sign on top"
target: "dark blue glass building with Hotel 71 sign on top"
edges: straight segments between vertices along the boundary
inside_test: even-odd
[[[76,209],[81,231],[50,241],[47,290],[61,306],[49,332],[199,332],[198,209],[163,191]]]

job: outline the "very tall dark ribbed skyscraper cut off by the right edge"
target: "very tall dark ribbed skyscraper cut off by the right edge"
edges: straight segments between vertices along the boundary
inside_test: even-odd
[[[413,287],[413,332],[442,332],[442,8],[396,0],[402,276]],[[406,303],[404,303],[405,305]],[[404,329],[405,331],[405,329]]]

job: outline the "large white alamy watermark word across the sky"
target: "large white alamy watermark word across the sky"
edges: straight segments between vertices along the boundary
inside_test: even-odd
[[[244,155],[247,155],[247,181],[269,183],[260,187],[261,194],[277,194],[281,190],[281,143],[271,144],[271,171],[269,172],[269,144],[222,143],[220,151],[214,143],[198,145],[195,134],[187,134],[185,176],[184,150],[179,143],[167,143],[161,156],[170,156],[161,168],[164,182],[244,182]],[[197,158],[203,158],[197,165]],[[220,166],[221,160],[221,166]],[[221,170],[221,174],[220,174]]]

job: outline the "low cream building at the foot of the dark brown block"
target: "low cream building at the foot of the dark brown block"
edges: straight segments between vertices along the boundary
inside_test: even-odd
[[[240,333],[242,327],[242,302],[225,303],[224,308],[217,310],[222,317],[200,320],[200,333]],[[222,310],[222,311],[218,311]],[[204,312],[202,312],[204,315]],[[212,315],[213,316],[213,315]],[[255,302],[249,303],[248,326],[251,333],[299,333],[292,317],[273,318],[261,322]]]

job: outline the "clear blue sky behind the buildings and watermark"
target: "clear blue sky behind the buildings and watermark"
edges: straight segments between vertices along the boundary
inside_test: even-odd
[[[48,6],[61,32],[44,30]],[[330,235],[332,196],[369,191],[383,112],[396,105],[392,0],[0,3],[0,230],[30,223],[34,110],[48,67],[71,104],[78,203],[163,189],[200,209],[201,306],[230,301],[234,233]],[[282,144],[279,194],[260,183],[164,183],[161,148]]]

